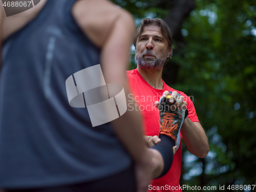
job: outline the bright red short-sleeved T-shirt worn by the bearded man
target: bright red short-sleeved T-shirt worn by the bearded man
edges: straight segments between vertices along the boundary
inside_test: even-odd
[[[127,71],[127,79],[131,89],[131,95],[129,95],[127,110],[138,110],[142,115],[142,122],[144,133],[147,136],[158,135],[159,132],[159,110],[155,107],[155,101],[159,101],[164,91],[177,91],[167,86],[163,81],[163,89],[155,89],[148,84],[145,79],[139,74],[137,69]],[[196,110],[191,99],[183,92],[177,91],[180,95],[184,96],[184,101],[187,102],[188,117],[192,122],[199,122]],[[135,100],[138,105],[136,107],[129,106],[129,101]],[[148,191],[182,191],[179,188],[180,185],[180,173],[181,173],[181,150],[182,150],[182,135],[181,142],[178,150],[176,151],[173,159],[173,164],[168,173],[152,181],[148,187]],[[175,188],[176,187],[176,188]],[[172,190],[172,188],[174,190]]]

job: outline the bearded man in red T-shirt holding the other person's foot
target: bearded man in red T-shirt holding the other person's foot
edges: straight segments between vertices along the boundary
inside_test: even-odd
[[[142,113],[147,135],[145,140],[149,147],[154,146],[161,139],[156,136],[159,135],[159,111],[152,103],[155,102],[158,106],[159,98],[171,93],[169,102],[174,103],[178,98],[175,107],[179,110],[187,104],[189,115],[184,119],[181,134],[176,139],[177,151],[173,165],[165,176],[153,180],[152,185],[148,187],[149,190],[162,191],[163,187],[168,185],[169,190],[182,191],[179,187],[182,138],[188,151],[200,158],[205,158],[209,151],[208,139],[190,98],[183,92],[170,88],[162,80],[163,66],[173,51],[172,32],[167,24],[162,19],[142,19],[141,25],[135,32],[134,46],[138,65],[137,69],[127,71],[127,78],[134,94],[133,98],[138,102],[138,109]],[[134,109],[128,108],[128,110]]]

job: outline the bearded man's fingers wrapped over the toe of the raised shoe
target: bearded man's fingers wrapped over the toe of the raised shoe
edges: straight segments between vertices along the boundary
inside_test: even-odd
[[[163,97],[164,97],[164,98],[166,98],[167,95],[170,95],[170,93],[169,93],[168,91],[163,92]],[[170,96],[169,102],[170,102],[170,103],[174,103],[175,100],[176,100],[176,98],[177,98],[177,95],[178,95],[177,91],[174,91],[174,92],[172,93],[172,95]],[[187,102],[184,101],[184,96],[180,96],[180,97],[177,98],[177,99],[178,99],[178,100],[173,104],[173,108],[174,108],[174,109],[175,109],[175,108],[176,108],[176,109],[178,108],[178,110],[184,109],[185,106],[187,105]],[[155,106],[159,109],[159,101],[156,101],[156,102],[155,102]]]

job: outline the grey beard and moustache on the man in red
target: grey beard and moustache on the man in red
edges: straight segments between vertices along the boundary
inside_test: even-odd
[[[167,52],[168,52],[168,50],[166,51],[166,54],[163,55],[162,57],[157,57],[150,50],[147,50],[147,51],[144,51],[142,54],[135,53],[135,59],[137,61],[138,66],[141,69],[160,70],[166,61]],[[145,55],[145,54],[151,54],[155,57],[154,58],[143,58],[143,55]]]

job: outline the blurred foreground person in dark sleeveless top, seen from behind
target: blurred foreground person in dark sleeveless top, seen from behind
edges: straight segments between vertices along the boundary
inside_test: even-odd
[[[1,3],[0,11],[0,188],[146,191],[163,159],[146,147],[139,112],[93,127],[66,92],[69,77],[100,63],[127,98],[132,16],[104,0],[41,0],[10,17]]]

